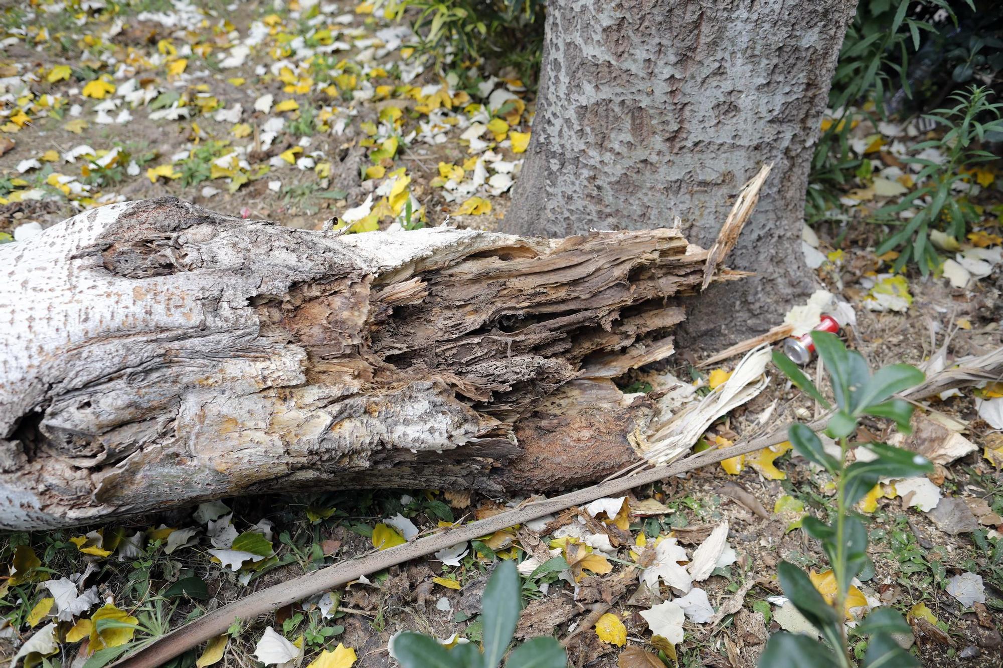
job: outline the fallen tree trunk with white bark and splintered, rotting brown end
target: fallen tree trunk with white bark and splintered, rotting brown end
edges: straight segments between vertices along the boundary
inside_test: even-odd
[[[340,236],[173,199],[81,214],[0,247],[0,528],[598,479],[638,459],[651,416],[611,379],[672,353],[707,257],[677,230]]]

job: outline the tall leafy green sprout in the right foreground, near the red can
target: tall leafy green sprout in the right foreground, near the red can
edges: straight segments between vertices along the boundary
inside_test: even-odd
[[[818,435],[806,424],[790,425],[788,437],[801,456],[824,468],[835,480],[837,508],[834,517],[828,518],[829,524],[805,517],[801,525],[804,533],[821,542],[831,568],[828,575],[834,580],[834,592],[822,587],[829,594],[827,598],[823,597],[803,571],[788,562],[780,563],[777,571],[783,593],[790,604],[815,627],[823,643],[819,645],[806,635],[777,633],[769,639],[766,651],[759,660],[761,668],[806,665],[852,668],[857,665],[851,652],[846,614],[852,581],[868,563],[868,532],[853,508],[883,477],[909,477],[933,470],[925,457],[914,452],[887,443],[850,440],[864,415],[892,419],[899,430],[908,431],[913,407],[903,399],[893,398],[893,395],[923,382],[923,372],[908,364],[892,364],[872,375],[864,357],[856,350],[847,350],[838,336],[812,332],[811,339],[828,372],[834,409],[789,358],[774,352],[773,362],[801,391],[826,410],[833,410],[825,434],[839,443],[839,452],[826,450]],[[848,463],[847,452],[852,446],[865,448],[870,456]],[[893,637],[893,634],[909,631],[909,625],[902,616],[891,608],[880,608],[870,613],[853,630],[855,636],[869,637],[867,652],[860,665],[868,668],[919,666]]]

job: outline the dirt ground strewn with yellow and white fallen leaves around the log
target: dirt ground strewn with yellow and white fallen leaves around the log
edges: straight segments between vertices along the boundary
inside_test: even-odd
[[[0,236],[0,242],[20,243],[12,239],[27,235],[17,230],[25,226],[27,231],[31,223],[45,228],[93,206],[163,195],[311,230],[343,222],[364,232],[447,220],[490,229],[504,216],[508,191],[518,180],[534,110],[523,82],[511,71],[436,68],[422,61],[420,53],[409,52],[407,35],[393,32],[401,24],[373,14],[367,3],[249,2],[228,8],[213,0],[198,6],[145,0],[69,3],[66,8],[42,0],[0,11],[0,235],[10,235]],[[248,51],[241,60],[243,46]],[[228,58],[237,64],[225,66]],[[86,94],[94,81],[115,90]],[[273,99],[266,105],[268,95]],[[295,106],[279,110],[287,100]],[[172,109],[173,115],[157,114]],[[479,133],[478,123],[484,125]],[[857,131],[864,140],[875,128],[864,123]],[[877,163],[892,159],[893,150],[908,149],[893,144],[890,136],[882,152],[871,157]],[[995,166],[987,169],[995,174]],[[369,196],[369,209],[350,216],[350,210],[365,209]],[[979,227],[988,235],[986,246],[999,248],[1000,219],[991,213],[1003,202],[999,188],[987,186],[972,197],[986,212]],[[963,288],[912,268],[893,274],[894,258],[874,252],[884,232],[865,222],[869,211],[887,201],[872,193],[845,202],[835,219],[842,222],[816,226],[818,239],[808,244],[825,256],[814,270],[819,285],[847,300],[857,314],[856,326],[844,332],[848,343],[872,368],[936,364],[942,348],[950,365],[998,348],[1003,344],[999,264]],[[871,310],[875,285],[897,276],[909,291],[905,309]],[[782,316],[778,313],[777,320]],[[657,370],[632,372],[618,383],[644,391],[644,382],[668,371],[705,385],[712,368],[697,364],[711,352],[680,351]],[[727,371],[736,362],[714,367]],[[816,365],[806,371],[814,377]],[[819,407],[775,369],[767,373],[766,389],[717,420],[703,440],[735,442],[819,415]],[[968,387],[924,401],[917,410],[916,420],[949,423],[951,431],[975,446],[929,478],[941,503],[961,500],[963,531],[951,533],[959,529],[957,522],[935,523],[915,508],[915,496],[892,488],[862,514],[873,568],[862,574],[859,590],[869,608],[892,606],[908,616],[914,633],[905,640],[924,665],[1003,665],[998,533],[1003,530],[1003,434],[980,416],[976,404],[999,397],[1000,390],[998,385]],[[878,419],[865,421],[859,434],[862,439],[891,436],[888,424]],[[586,629],[569,644],[573,665],[624,666],[625,646],[664,650],[653,644],[641,613],[678,593],[664,585],[655,591],[637,583],[624,588],[619,579],[634,561],[631,553],[637,554],[642,543],[667,537],[692,555],[714,527],[727,522],[735,561],[716,568],[699,588],[715,610],[733,603],[734,612],[714,624],[687,619],[674,651],[681,666],[753,666],[769,634],[796,622],[770,598],[781,593],[776,565],[786,560],[816,573],[827,570],[818,544],[791,525],[806,513],[824,516],[831,510],[830,478],[789,452],[772,464],[775,469],[745,462],[737,472],[714,464],[633,489],[629,508],[651,508],[653,499],[664,510],[628,514],[621,519],[623,527],[608,517],[610,524],[597,522],[578,509],[549,524],[483,537],[467,546],[454,566],[418,560],[375,574],[368,584],[353,584],[340,599],[337,594],[326,601],[315,597],[242,620],[213,665],[262,665],[255,653],[267,627],[298,643],[301,662],[340,643],[354,649],[355,665],[365,668],[393,665],[387,646],[401,630],[429,633],[443,642],[477,642],[480,597],[498,560],[524,561],[539,555],[541,546],[560,549],[561,543],[553,541],[569,527],[582,526],[579,518],[584,518],[588,531],[581,540],[599,536],[602,544],[610,539],[611,548],[602,553],[610,572],[585,572],[577,583],[558,579],[558,573],[527,578],[519,637],[567,638],[592,610],[612,601],[609,612],[624,625],[625,639],[604,640]],[[0,585],[5,615],[0,657],[13,657],[45,623],[54,623],[55,609],[44,609],[51,604],[45,603],[49,594],[42,575],[68,578],[81,593],[94,587],[101,605],[137,620],[131,622],[139,627],[133,634],[115,638],[71,633],[83,633],[86,625],[80,625],[90,609],[59,621],[58,648],[39,665],[83,666],[85,655],[101,644],[137,647],[253,591],[371,552],[381,527],[399,535],[407,533],[400,526],[413,524],[424,532],[442,522],[487,517],[519,500],[456,490],[333,491],[226,499],[229,508],[219,515],[188,509],[77,531],[8,534],[0,538],[0,562],[7,565]],[[398,516],[407,522],[395,521]],[[236,569],[224,566],[210,551],[225,542],[227,531],[265,536],[272,554],[239,561]],[[26,559],[28,548],[38,561],[31,573],[38,577],[18,582],[14,567]],[[981,577],[984,602],[965,606],[948,592],[951,579],[962,574]],[[181,593],[179,583],[195,590]],[[863,648],[858,643],[856,649]],[[198,648],[170,665],[195,665],[203,651]]]

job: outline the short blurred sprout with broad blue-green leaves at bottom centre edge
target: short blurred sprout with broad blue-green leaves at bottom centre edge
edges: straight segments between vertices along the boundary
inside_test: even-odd
[[[498,565],[484,588],[483,651],[475,643],[446,649],[420,633],[402,633],[393,642],[393,653],[404,668],[496,668],[512,643],[522,609],[516,564]],[[509,655],[506,668],[567,668],[568,656],[550,637],[531,638]]]

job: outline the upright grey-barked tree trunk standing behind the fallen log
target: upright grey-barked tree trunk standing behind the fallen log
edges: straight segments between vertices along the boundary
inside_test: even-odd
[[[555,0],[533,140],[503,229],[563,237],[683,221],[713,242],[730,200],[774,162],[718,285],[687,320],[719,345],[807,291],[804,192],[856,0]],[[736,327],[737,325],[737,327]]]

